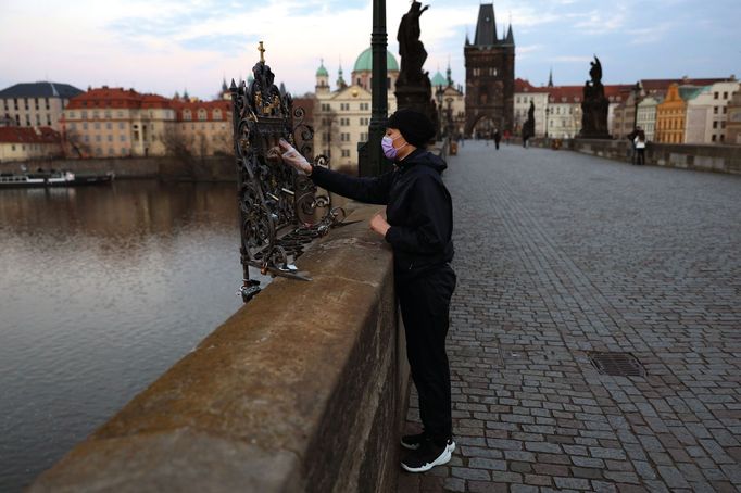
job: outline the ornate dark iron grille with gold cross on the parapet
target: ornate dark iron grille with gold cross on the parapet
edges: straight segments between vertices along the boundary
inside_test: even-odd
[[[246,303],[260,292],[260,282],[250,279],[250,266],[263,275],[310,280],[298,271],[296,258],[307,243],[344,219],[342,210],[330,207],[328,195],[317,194],[312,180],[275,152],[282,138],[312,161],[314,129],[304,123],[305,111],[294,110],[291,96],[274,84],[262,41],[259,50],[254,80],[237,86],[233,79],[230,87],[244,273],[240,293]],[[314,163],[326,166],[328,160],[318,156]]]

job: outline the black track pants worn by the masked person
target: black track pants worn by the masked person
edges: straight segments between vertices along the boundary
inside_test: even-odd
[[[445,337],[454,289],[455,273],[449,265],[397,285],[419,417],[425,432],[437,442],[451,438],[453,431]]]

